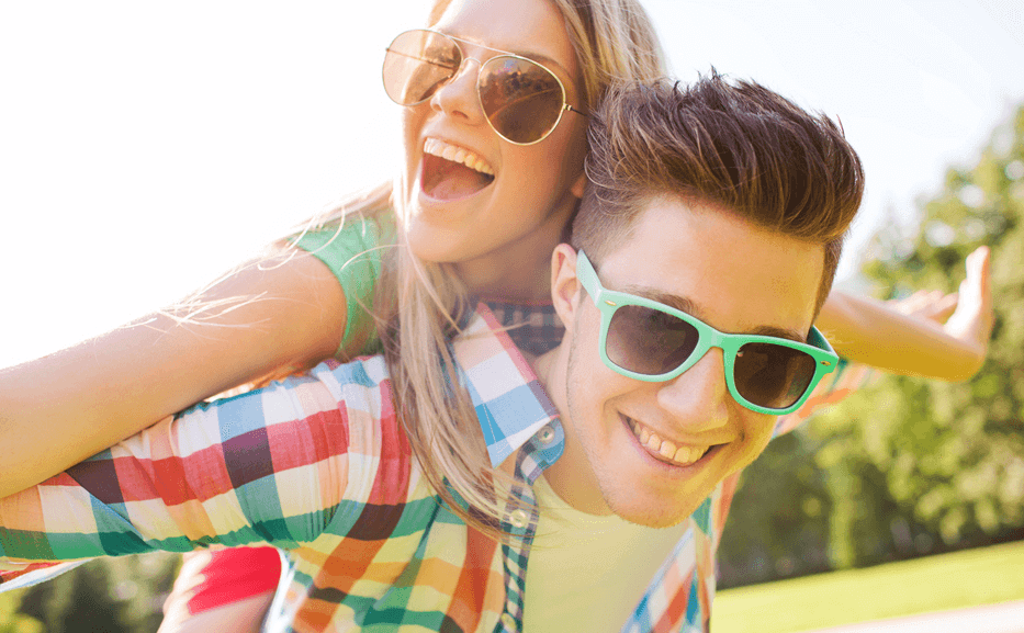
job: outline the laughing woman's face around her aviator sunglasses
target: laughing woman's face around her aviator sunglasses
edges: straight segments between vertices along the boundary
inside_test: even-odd
[[[521,274],[550,259],[582,194],[586,117],[565,112],[533,145],[503,139],[480,106],[477,61],[497,55],[491,48],[540,61],[561,79],[569,103],[583,109],[575,52],[549,0],[457,0],[431,29],[466,41],[460,46],[473,60],[403,113],[409,244],[424,260],[459,264],[471,286],[474,276],[500,284],[495,274]],[[446,149],[464,154],[446,160],[438,156]]]

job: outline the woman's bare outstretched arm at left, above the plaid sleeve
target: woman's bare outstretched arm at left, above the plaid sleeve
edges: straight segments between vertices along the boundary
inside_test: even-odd
[[[206,307],[185,318],[195,306]],[[193,403],[334,355],[346,319],[331,271],[305,251],[283,250],[188,306],[0,370],[0,497]]]

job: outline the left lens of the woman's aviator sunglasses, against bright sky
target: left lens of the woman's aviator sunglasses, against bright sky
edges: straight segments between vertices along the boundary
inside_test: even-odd
[[[384,90],[400,105],[430,99],[462,65],[454,42],[429,31],[409,31],[395,37],[384,54]]]

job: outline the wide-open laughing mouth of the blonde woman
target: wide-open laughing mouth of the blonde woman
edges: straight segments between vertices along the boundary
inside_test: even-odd
[[[437,138],[424,143],[420,183],[435,200],[452,201],[479,193],[494,182],[494,169],[468,149]]]

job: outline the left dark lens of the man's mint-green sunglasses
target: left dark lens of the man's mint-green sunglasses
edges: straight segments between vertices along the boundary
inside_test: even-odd
[[[626,305],[611,315],[605,351],[623,370],[656,376],[686,362],[697,338],[697,328],[680,318]]]

